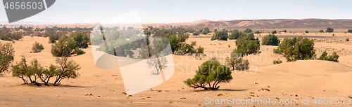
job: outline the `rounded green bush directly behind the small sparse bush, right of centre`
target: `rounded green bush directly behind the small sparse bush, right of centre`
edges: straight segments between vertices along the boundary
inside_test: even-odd
[[[241,34],[236,40],[237,53],[241,56],[257,54],[260,50],[260,41],[254,38],[254,34]]]

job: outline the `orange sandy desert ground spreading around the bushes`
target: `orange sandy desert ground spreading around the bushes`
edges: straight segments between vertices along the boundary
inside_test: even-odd
[[[260,38],[263,35],[265,34],[256,36]],[[132,97],[122,94],[125,92],[125,87],[120,71],[97,68],[94,64],[92,49],[87,48],[83,49],[87,52],[86,54],[69,58],[82,67],[78,71],[80,78],[63,80],[63,85],[58,87],[21,85],[23,81],[20,78],[2,73],[3,76],[0,76],[0,106],[351,106],[341,103],[313,104],[312,98],[314,97],[346,98],[352,96],[352,43],[338,42],[339,40],[344,41],[344,33],[335,35],[328,39],[329,41],[336,39],[336,42],[318,42],[319,39],[327,38],[315,38],[317,39],[315,48],[318,49],[318,56],[321,55],[322,50],[328,50],[329,55],[332,51],[338,51],[339,63],[320,60],[286,62],[282,55],[272,53],[272,49],[277,48],[276,46],[262,45],[260,47],[262,55],[249,55],[245,58],[250,59],[251,71],[232,71],[231,83],[220,84],[220,90],[217,91],[203,91],[187,87],[182,81],[193,78],[197,66],[206,60],[194,59],[194,56],[174,55],[175,74],[165,83],[151,90],[133,94]],[[329,34],[321,36],[332,37]],[[282,39],[280,36],[279,38]],[[35,41],[44,45],[45,49],[42,52],[30,53]],[[38,59],[42,66],[56,64],[56,57],[51,56],[51,44],[48,41],[49,38],[30,36],[25,36],[23,41],[15,41],[13,44],[15,62],[19,62],[23,55],[28,62],[33,58]],[[217,56],[222,64],[225,64],[226,53],[236,48],[233,40],[210,41],[210,38],[189,38],[187,43],[191,41],[196,41],[197,47],[204,47],[208,58]],[[273,65],[273,59],[282,59],[283,63]],[[262,88],[264,90],[261,90]],[[265,105],[258,104],[258,101],[244,105],[225,104],[224,102],[222,105],[207,105],[205,104],[207,103],[206,97],[209,98],[206,100],[227,99],[227,97],[235,100],[247,97],[257,97],[262,100],[297,99],[298,105],[278,103]],[[309,104],[303,105],[302,99],[309,99]]]

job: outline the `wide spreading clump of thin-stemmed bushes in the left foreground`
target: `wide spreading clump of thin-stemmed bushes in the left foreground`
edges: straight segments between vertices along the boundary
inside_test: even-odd
[[[19,63],[12,66],[13,76],[21,78],[25,84],[38,84],[37,80],[41,80],[44,85],[49,85],[50,78],[55,78],[56,80],[53,84],[55,86],[60,85],[63,79],[80,76],[77,73],[80,70],[80,66],[73,62],[73,60],[68,61],[67,57],[62,57],[57,58],[56,63],[59,66],[51,64],[49,69],[44,69],[40,66],[37,59],[33,59],[31,66],[29,66],[25,57],[23,57]]]

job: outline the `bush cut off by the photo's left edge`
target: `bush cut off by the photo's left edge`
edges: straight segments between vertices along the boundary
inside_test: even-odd
[[[13,57],[15,57],[15,50],[11,43],[0,43],[0,73],[10,72],[8,69],[11,67]]]

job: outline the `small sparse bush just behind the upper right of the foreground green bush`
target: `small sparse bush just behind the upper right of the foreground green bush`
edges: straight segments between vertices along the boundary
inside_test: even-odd
[[[244,60],[236,49],[231,52],[230,57],[226,57],[226,64],[232,66],[232,70],[249,69],[248,59]]]

